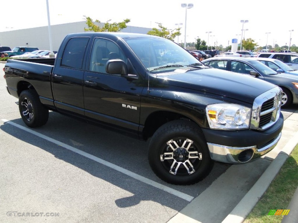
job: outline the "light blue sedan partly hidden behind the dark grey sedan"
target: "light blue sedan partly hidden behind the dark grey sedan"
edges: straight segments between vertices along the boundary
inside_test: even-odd
[[[257,57],[257,60],[265,64],[267,67],[270,67],[272,70],[275,70],[277,73],[298,75],[298,70],[292,69],[289,65],[286,65],[278,59]]]

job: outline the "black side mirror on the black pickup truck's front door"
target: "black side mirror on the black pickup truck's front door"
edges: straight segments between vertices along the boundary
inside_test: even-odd
[[[105,71],[110,74],[120,74],[128,79],[138,79],[138,76],[128,74],[126,63],[120,59],[111,59],[107,61]]]

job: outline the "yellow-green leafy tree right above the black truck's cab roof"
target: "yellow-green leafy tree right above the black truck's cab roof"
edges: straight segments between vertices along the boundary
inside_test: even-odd
[[[110,20],[108,20],[104,25],[100,24],[99,20],[95,20],[96,23],[99,23],[98,25],[94,24],[93,20],[90,17],[86,17],[86,24],[89,28],[84,28],[85,31],[93,31],[93,32],[119,32],[121,29],[126,28],[126,23],[130,22],[130,19],[125,19],[123,22],[119,23],[109,23]]]

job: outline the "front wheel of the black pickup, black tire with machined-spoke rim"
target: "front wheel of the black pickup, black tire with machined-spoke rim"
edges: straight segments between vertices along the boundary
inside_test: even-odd
[[[179,185],[190,185],[204,179],[214,164],[201,129],[184,120],[168,122],[155,132],[148,159],[159,178]]]

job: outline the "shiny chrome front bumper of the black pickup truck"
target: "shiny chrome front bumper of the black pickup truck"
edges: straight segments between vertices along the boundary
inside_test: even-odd
[[[208,142],[207,145],[212,160],[224,163],[239,164],[254,160],[270,152],[277,145],[280,137],[281,133],[272,142],[262,148],[257,148],[256,145],[249,147],[229,147]],[[240,155],[240,153],[248,155],[246,155],[243,160],[243,156]]]

